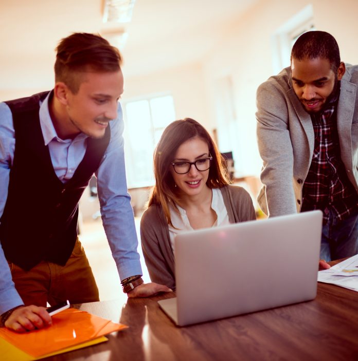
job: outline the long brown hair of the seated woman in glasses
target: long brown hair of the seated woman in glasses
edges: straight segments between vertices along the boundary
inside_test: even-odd
[[[209,154],[212,157],[209,168],[209,176],[206,185],[209,188],[221,188],[229,183],[225,160],[219,153],[217,145],[210,137],[207,130],[191,118],[176,120],[169,124],[155,148],[153,156],[155,185],[149,198],[148,206],[159,204],[163,208],[168,224],[173,225],[170,218],[169,204],[179,203],[180,198],[176,192],[175,182],[170,173],[171,162],[176,150],[181,144],[189,139],[199,137],[209,147]]]

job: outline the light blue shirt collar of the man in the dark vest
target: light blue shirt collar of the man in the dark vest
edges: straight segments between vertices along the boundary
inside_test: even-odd
[[[57,140],[59,142],[71,142],[70,139],[61,139],[56,132],[55,126],[53,126],[52,119],[50,117],[50,111],[48,109],[48,102],[53,96],[53,90],[51,90],[47,97],[43,100],[43,102],[40,101],[40,110],[39,110],[39,117],[40,117],[40,126],[42,130],[42,135],[44,137],[45,145],[48,145],[52,140]],[[87,138],[83,133],[80,133],[75,140],[80,140]]]

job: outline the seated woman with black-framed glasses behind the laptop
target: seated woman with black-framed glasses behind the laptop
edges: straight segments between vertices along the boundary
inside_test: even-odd
[[[201,228],[256,219],[251,197],[230,185],[224,159],[193,119],[167,126],[154,152],[155,186],[140,222],[153,282],[175,289],[174,237]]]

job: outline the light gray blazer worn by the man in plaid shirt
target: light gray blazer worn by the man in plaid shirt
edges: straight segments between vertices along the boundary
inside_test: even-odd
[[[337,106],[341,158],[358,192],[358,66],[346,64]],[[311,165],[314,131],[293,88],[291,68],[269,78],[257,90],[257,137],[263,160],[258,196],[269,216],[299,212],[302,187]]]

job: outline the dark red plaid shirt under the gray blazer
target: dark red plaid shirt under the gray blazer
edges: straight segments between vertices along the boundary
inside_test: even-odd
[[[301,211],[321,210],[323,224],[330,211],[338,221],[358,212],[358,195],[349,181],[341,159],[337,131],[339,88],[328,105],[311,115],[314,150],[311,166],[303,184]]]

